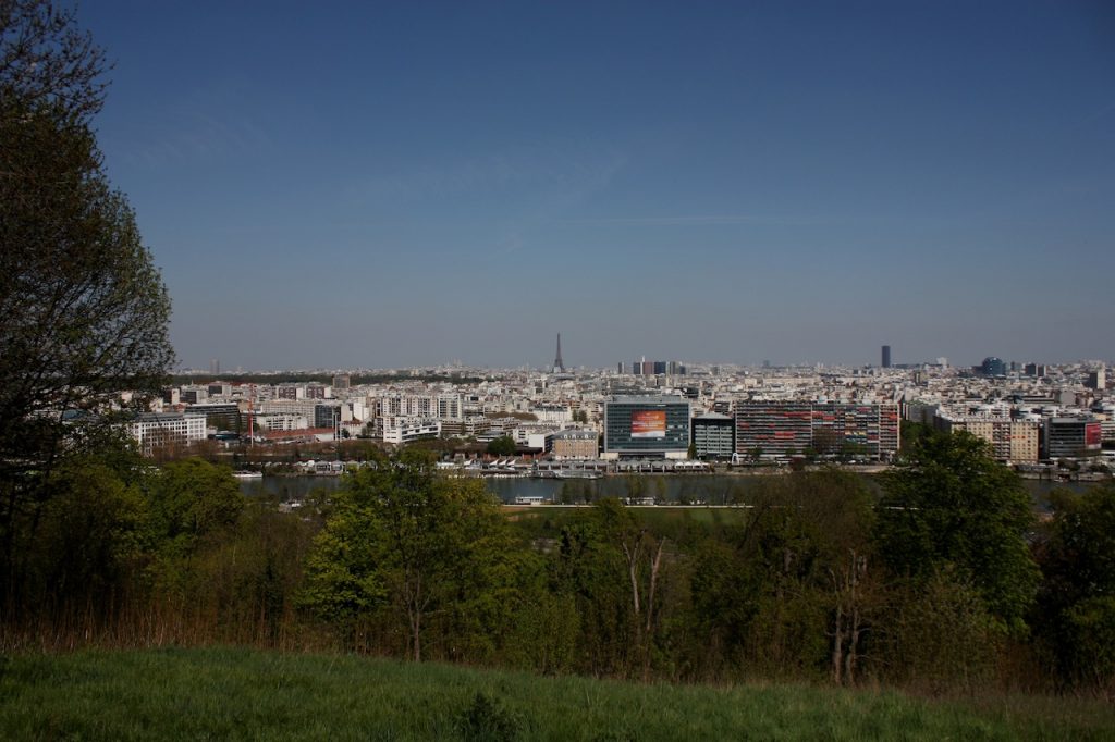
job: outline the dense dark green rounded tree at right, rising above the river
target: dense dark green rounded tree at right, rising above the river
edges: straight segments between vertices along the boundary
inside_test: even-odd
[[[1035,517],[1018,476],[967,432],[927,432],[883,478],[875,539],[891,573],[924,583],[949,570],[1001,628],[1021,631],[1038,583]]]

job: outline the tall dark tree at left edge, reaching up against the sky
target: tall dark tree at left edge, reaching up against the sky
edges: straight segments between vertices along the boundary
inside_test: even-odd
[[[49,472],[173,361],[166,290],[89,128],[105,69],[72,11],[0,0],[0,601]]]

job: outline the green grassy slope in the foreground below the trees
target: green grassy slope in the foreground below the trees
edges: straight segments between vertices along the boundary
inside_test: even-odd
[[[494,713],[469,715],[477,693]],[[638,685],[239,648],[23,654],[4,660],[0,676],[7,740],[445,740],[467,738],[477,717],[542,740],[1115,738],[1115,710],[1099,702],[977,707],[893,692]]]

